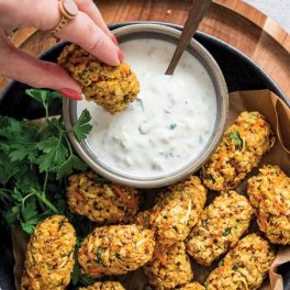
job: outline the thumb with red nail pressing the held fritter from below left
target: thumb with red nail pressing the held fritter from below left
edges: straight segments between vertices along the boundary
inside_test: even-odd
[[[0,37],[0,75],[34,88],[48,88],[80,100],[79,85],[58,65],[44,62],[12,46]]]

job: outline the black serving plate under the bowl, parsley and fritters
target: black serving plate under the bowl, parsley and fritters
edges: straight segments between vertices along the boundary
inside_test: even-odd
[[[130,24],[132,23],[116,23],[110,25],[110,29],[114,30]],[[177,30],[181,29],[180,26],[168,23],[163,24],[170,25]],[[269,89],[290,107],[289,99],[277,83],[247,56],[228,44],[204,33],[196,33],[194,38],[212,54],[220,65],[230,92],[236,90]],[[41,58],[55,62],[64,45],[64,43],[59,43],[44,53]],[[16,119],[37,119],[43,116],[44,112],[38,103],[25,97],[24,90],[27,87],[23,83],[16,81],[12,82],[0,96],[0,114]],[[60,114],[62,103],[56,102],[51,109],[51,113]],[[9,232],[0,225],[0,289],[2,290],[14,289],[13,264],[11,236]],[[279,267],[279,272],[283,276],[285,290],[290,290],[290,263]]]

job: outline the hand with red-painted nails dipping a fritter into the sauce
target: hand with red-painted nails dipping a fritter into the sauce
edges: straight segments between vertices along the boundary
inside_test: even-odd
[[[75,0],[78,14],[56,35],[116,66],[123,53],[92,0]],[[53,30],[62,14],[57,0],[0,0],[0,75],[35,88],[51,88],[80,100],[79,85],[58,65],[40,60],[12,45],[5,32],[21,26]]]

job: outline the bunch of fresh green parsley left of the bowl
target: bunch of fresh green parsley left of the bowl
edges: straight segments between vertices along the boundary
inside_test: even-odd
[[[65,178],[87,166],[75,154],[63,120],[48,109],[60,94],[43,89],[26,93],[43,104],[42,123],[0,116],[0,203],[5,223],[20,224],[26,233],[53,213],[66,210]],[[91,131],[90,114],[82,112],[72,127],[81,141]]]

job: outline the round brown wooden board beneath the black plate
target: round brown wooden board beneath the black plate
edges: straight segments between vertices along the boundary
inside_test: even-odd
[[[150,20],[183,24],[190,0],[99,0],[107,23]],[[199,30],[227,42],[260,65],[290,98],[290,35],[241,0],[213,0]],[[35,55],[56,43],[34,29],[19,30],[12,42]],[[0,88],[7,83],[0,79]]]

